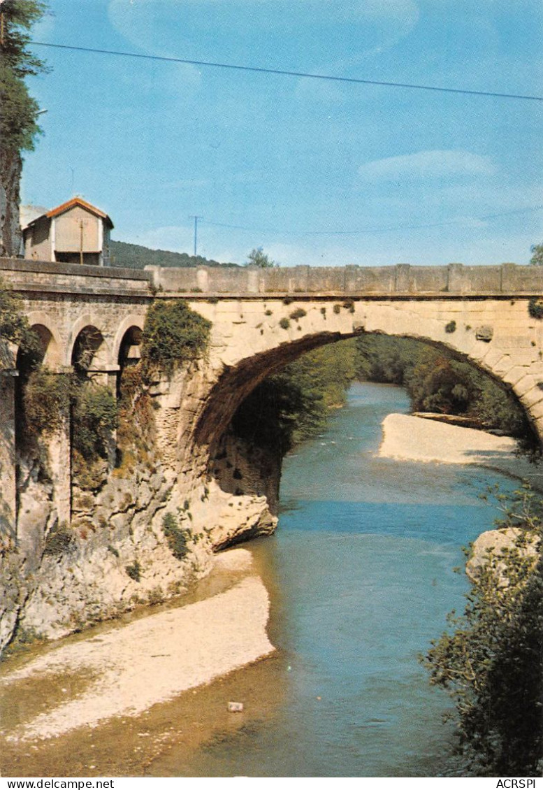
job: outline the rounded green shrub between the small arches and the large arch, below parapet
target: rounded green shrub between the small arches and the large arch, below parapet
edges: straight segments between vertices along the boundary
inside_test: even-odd
[[[212,323],[183,299],[156,301],[145,318],[141,360],[144,374],[173,373],[175,367],[204,354]]]

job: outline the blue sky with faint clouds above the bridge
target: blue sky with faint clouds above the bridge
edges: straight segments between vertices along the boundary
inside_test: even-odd
[[[543,95],[540,0],[49,5],[36,41]],[[192,252],[198,215],[199,254],[281,265],[526,263],[543,240],[541,102],[36,53],[22,200],[81,194],[114,239]]]

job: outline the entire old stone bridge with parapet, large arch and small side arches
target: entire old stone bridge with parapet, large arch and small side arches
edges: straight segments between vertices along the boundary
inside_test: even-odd
[[[208,457],[238,404],[268,374],[363,332],[415,337],[470,360],[515,393],[543,439],[543,321],[530,313],[530,303],[543,297],[543,269],[534,266],[137,271],[2,259],[0,276],[21,295],[51,371],[70,370],[85,340],[89,375],[113,392],[119,371],[139,355],[154,299],[186,299],[212,321],[197,383],[185,375],[181,383],[157,384],[159,442],[172,476]],[[0,464],[4,517],[14,521],[17,348],[10,354],[0,371]],[[69,431],[53,445],[56,507],[69,521]]]

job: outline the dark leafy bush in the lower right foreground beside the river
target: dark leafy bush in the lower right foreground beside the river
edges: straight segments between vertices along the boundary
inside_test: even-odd
[[[543,503],[528,487],[499,498],[498,526],[515,546],[489,551],[453,630],[423,658],[431,683],[455,700],[459,752],[472,775],[539,777],[543,769]],[[538,551],[523,549],[528,539]]]

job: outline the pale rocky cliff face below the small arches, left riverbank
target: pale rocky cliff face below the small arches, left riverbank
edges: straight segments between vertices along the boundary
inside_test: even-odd
[[[70,525],[55,510],[47,446],[41,460],[19,457],[17,540],[0,558],[0,649],[13,634],[58,638],[178,596],[208,573],[214,551],[273,532],[280,458],[228,431],[211,460],[192,444],[205,378],[195,366],[152,385],[152,450],[136,420],[117,468],[73,477]]]

